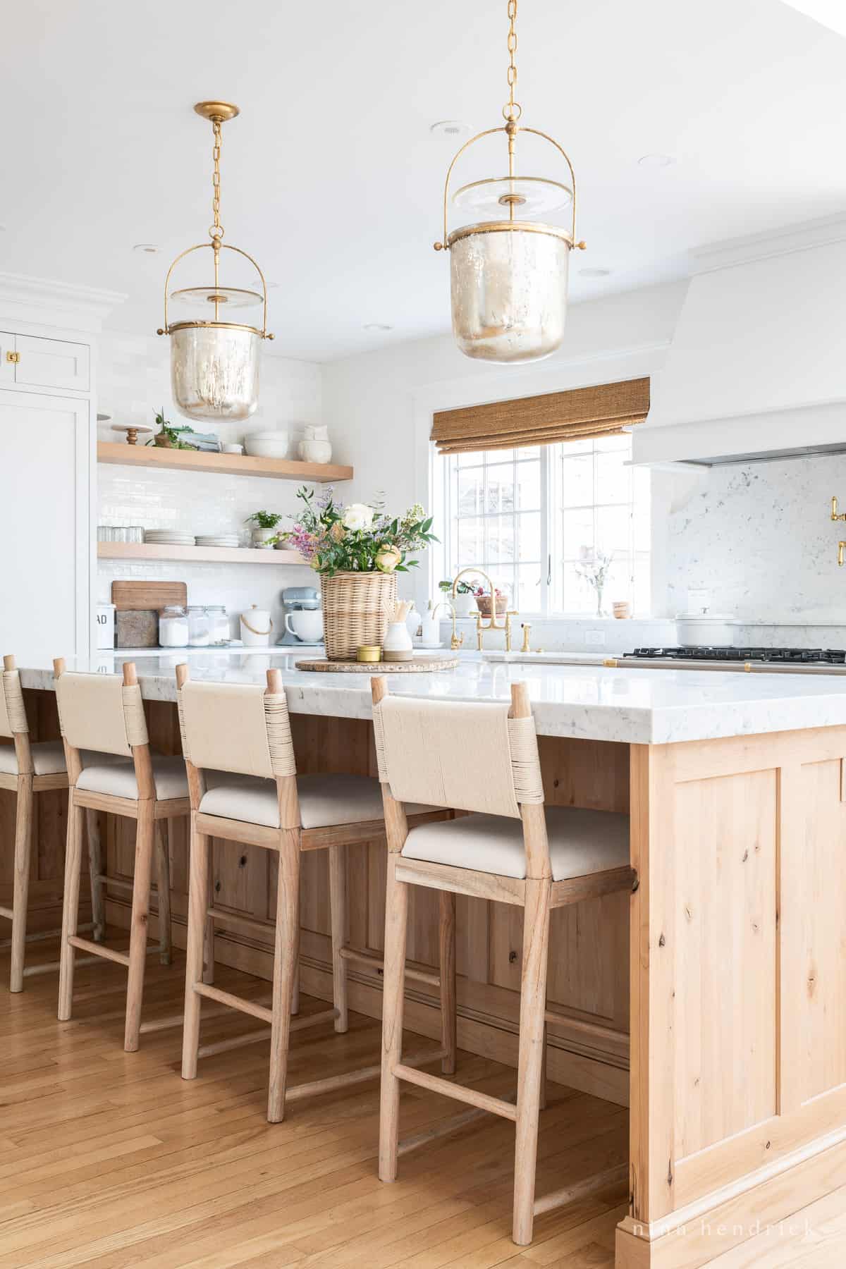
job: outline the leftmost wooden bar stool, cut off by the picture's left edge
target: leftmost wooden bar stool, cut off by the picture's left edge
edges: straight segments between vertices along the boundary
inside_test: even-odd
[[[37,793],[67,788],[67,766],[65,747],[61,740],[29,740],[29,725],[24,709],[20,676],[15,669],[14,656],[3,659],[3,683],[0,684],[0,736],[14,740],[11,745],[0,746],[0,789],[10,789],[16,796],[15,803],[15,860],[11,907],[0,906],[0,916],[11,921],[11,939],[4,947],[11,948],[11,967],[9,990],[23,991],[24,978],[36,973],[49,973],[58,970],[58,961],[25,966],[27,943],[58,938],[60,930],[39,930],[27,934],[27,905],[29,900],[29,872],[33,845],[33,810]],[[84,764],[117,761],[110,754],[82,754]],[[103,895],[95,882],[95,863],[99,853],[99,826],[91,813],[88,821],[89,857],[91,859],[91,909],[93,923],[81,929],[94,929],[94,938],[103,938]]]

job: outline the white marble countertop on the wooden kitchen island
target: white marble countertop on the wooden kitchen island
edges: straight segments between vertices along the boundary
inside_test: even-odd
[[[68,659],[67,669],[119,673],[126,659],[120,652],[98,652]],[[195,652],[190,674],[193,679],[264,683],[265,670],[274,666],[282,670],[292,713],[370,717],[369,675],[297,670],[294,662],[306,659],[303,652]],[[175,700],[175,667],[184,660],[178,651],[140,659],[143,697]],[[24,688],[52,689],[49,661],[28,662],[23,655],[18,664]],[[846,725],[846,676],[833,674],[507,664],[465,652],[455,670],[392,675],[391,690],[441,700],[507,700],[510,684],[517,680],[529,685],[538,732],[544,736],[661,745]]]

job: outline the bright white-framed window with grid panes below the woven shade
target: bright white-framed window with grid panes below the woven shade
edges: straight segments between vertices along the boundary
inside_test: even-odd
[[[521,613],[589,617],[596,593],[577,565],[604,551],[604,609],[628,599],[648,613],[649,472],[628,466],[630,457],[627,434],[436,454],[443,576],[478,565]]]

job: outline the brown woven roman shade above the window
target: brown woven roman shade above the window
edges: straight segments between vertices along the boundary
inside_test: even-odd
[[[441,454],[550,445],[558,440],[614,437],[624,426],[643,423],[648,412],[649,379],[624,379],[571,392],[441,410],[434,416],[431,439]]]

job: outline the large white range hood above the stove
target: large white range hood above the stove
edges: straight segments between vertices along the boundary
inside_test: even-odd
[[[846,450],[846,218],[696,254],[638,463]]]

